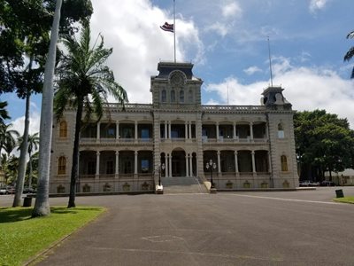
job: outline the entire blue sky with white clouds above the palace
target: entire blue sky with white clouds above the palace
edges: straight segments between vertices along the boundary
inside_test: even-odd
[[[108,64],[132,103],[150,103],[150,75],[173,60],[173,0],[92,0],[93,39],[113,48]],[[352,0],[176,0],[177,60],[194,63],[204,80],[204,104],[258,105],[270,83],[281,85],[295,110],[326,109],[354,128],[354,88],[344,63],[354,40]],[[23,130],[23,100],[4,95],[16,129]],[[41,95],[31,105],[31,131],[39,129]]]

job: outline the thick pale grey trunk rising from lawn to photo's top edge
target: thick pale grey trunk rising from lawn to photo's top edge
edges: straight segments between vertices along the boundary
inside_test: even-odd
[[[39,141],[39,165],[35,208],[32,217],[50,215],[49,183],[50,183],[50,148],[53,125],[53,79],[57,55],[60,10],[62,0],[57,0],[53,26],[50,34],[50,50],[45,64],[42,93],[42,110]]]

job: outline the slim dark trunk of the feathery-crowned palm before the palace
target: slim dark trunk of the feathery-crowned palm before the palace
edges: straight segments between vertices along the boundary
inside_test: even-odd
[[[76,111],[76,121],[75,121],[75,137],[73,139],[73,166],[72,175],[70,180],[70,195],[69,203],[67,207],[75,207],[75,195],[76,195],[76,180],[78,177],[78,166],[79,166],[79,142],[80,142],[80,131],[81,131],[81,116],[82,116],[82,100],[78,99],[78,109]]]

